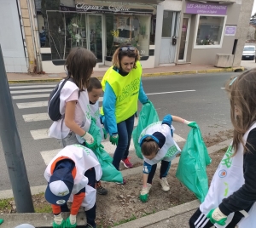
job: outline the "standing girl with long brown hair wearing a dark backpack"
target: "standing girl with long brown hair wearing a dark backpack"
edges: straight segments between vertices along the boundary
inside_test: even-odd
[[[88,133],[90,129],[90,105],[86,91],[88,80],[96,66],[95,55],[85,48],[73,48],[66,60],[67,81],[61,89],[60,111],[64,117],[49,128],[49,136],[60,144],[79,144],[76,134],[85,140],[85,145],[93,148],[95,141]],[[62,81],[63,82],[63,81]]]

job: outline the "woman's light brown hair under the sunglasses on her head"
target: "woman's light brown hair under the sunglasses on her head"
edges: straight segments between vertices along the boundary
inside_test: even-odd
[[[137,60],[140,60],[141,58],[139,51],[137,50],[137,48],[135,48],[134,51],[129,49],[127,51],[120,50],[120,48],[123,48],[123,47],[132,47],[132,46],[129,43],[125,43],[115,50],[112,57],[113,66],[116,66],[117,68],[120,69],[120,61],[123,59],[124,56],[128,56],[130,58],[135,59],[133,68],[136,69]]]

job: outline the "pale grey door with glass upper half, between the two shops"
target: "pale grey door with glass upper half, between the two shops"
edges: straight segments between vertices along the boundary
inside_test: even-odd
[[[160,45],[160,64],[170,64],[175,60],[178,14],[178,12],[164,10]]]

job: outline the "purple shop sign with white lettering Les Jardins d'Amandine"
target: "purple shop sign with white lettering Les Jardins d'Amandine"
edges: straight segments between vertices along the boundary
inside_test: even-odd
[[[227,14],[228,5],[216,3],[193,3],[186,2],[186,14]]]

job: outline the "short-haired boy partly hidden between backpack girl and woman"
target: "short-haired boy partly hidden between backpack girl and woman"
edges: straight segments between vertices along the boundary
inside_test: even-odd
[[[102,84],[96,77],[90,77],[89,86],[87,88],[88,96],[90,100],[90,115],[92,118],[95,118],[97,126],[102,130],[102,139],[107,139],[107,132],[102,128],[102,123],[100,119],[99,111],[99,98],[102,95]],[[107,195],[108,190],[104,188],[101,182],[97,182],[97,194]]]

